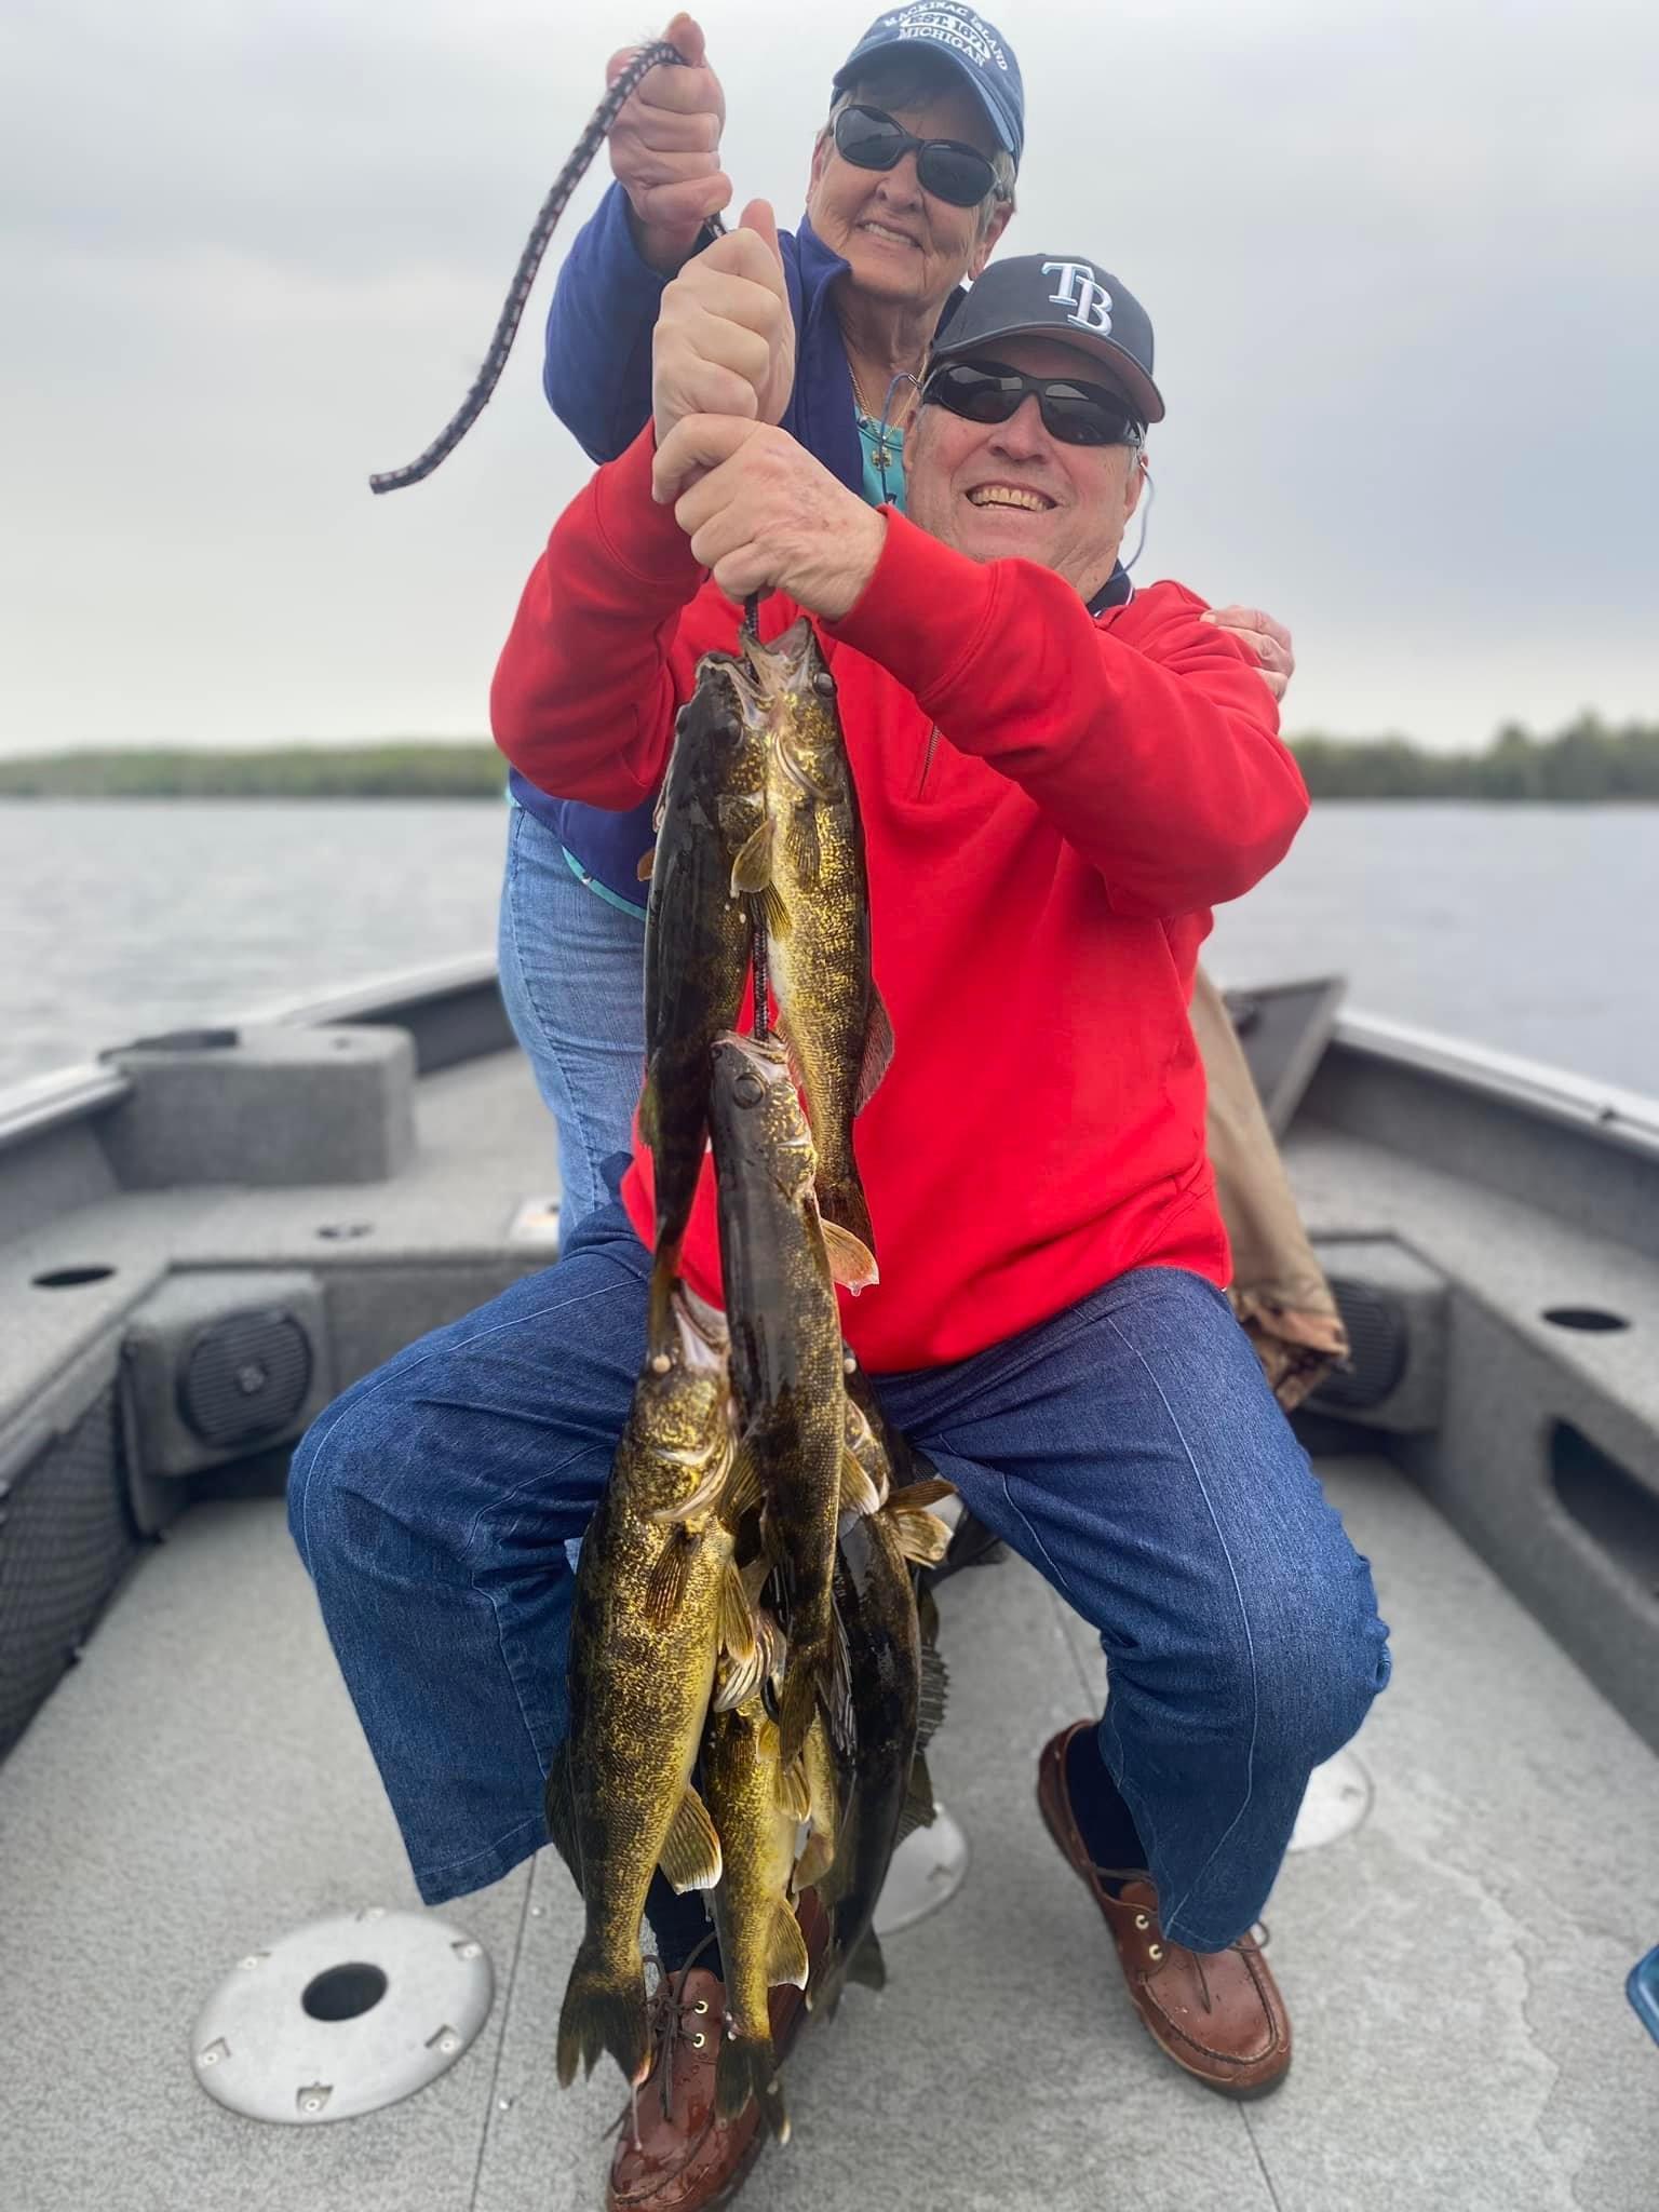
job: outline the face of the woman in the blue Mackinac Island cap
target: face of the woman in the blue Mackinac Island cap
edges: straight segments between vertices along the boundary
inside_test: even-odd
[[[942,86],[900,108],[880,100],[876,84],[860,86],[856,97],[891,115],[914,137],[960,139],[984,155],[998,150],[984,108],[967,86]],[[953,208],[949,199],[925,192],[916,181],[914,153],[898,168],[854,168],[836,153],[827,131],[812,153],[812,228],[847,263],[852,290],[874,301],[938,314],[964,276],[980,274],[1011,212],[1006,201],[998,201],[984,223],[984,204]]]

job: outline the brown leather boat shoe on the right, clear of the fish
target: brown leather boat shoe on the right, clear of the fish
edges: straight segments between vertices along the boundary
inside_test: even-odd
[[[1141,1869],[1102,1869],[1088,1856],[1066,1790],[1066,1745],[1075,1721],[1037,1763],[1037,1809],[1066,1863],[1082,1876],[1117,1944],[1128,1993],[1152,2042],[1223,2097],[1265,2097],[1290,2073],[1290,2015],[1254,1936],[1225,1951],[1166,1942],[1157,1887]],[[1102,1874],[1113,1876],[1117,1896]]]

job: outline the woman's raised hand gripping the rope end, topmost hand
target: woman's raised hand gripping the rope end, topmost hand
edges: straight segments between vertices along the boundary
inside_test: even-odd
[[[639,82],[611,131],[611,168],[628,195],[641,259],[670,274],[708,217],[730,204],[732,179],[721,168],[726,93],[703,60],[701,27],[675,15],[664,38],[686,66],[661,62]],[[635,53],[613,53],[604,82],[615,84]]]

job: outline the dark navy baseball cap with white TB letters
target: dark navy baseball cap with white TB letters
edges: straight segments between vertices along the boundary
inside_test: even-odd
[[[1164,420],[1164,396],[1152,383],[1152,319],[1097,261],[1082,254],[993,261],[933,341],[929,358],[984,354],[998,338],[1057,338],[1095,354],[1144,422]]]

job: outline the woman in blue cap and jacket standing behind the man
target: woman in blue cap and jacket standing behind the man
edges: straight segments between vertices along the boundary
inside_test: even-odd
[[[664,38],[686,66],[650,71],[622,111],[611,135],[617,181],[575,239],[549,312],[546,396],[593,460],[615,458],[644,427],[664,285],[732,195],[719,166],[726,104],[703,33],[677,15]],[[608,75],[626,60],[613,55]],[[781,239],[796,323],[783,427],[872,504],[902,507],[914,378],[1013,217],[1022,150],[1020,66],[995,27],[962,4],[878,18],[836,71],[805,219]],[[1108,593],[1130,588],[1119,568]],[[1245,608],[1217,619],[1245,637],[1283,692],[1287,633]],[[573,1225],[602,1203],[602,1161],[628,1148],[639,1093],[650,807],[604,814],[518,774],[511,796],[502,995],[557,1124]],[[1272,1150],[1265,1172],[1294,1223]],[[1292,1261],[1276,1281],[1318,1279],[1298,1225]],[[1327,1307],[1329,1294],[1314,1301],[1316,1314]],[[1340,1352],[1332,1325],[1327,1314],[1314,1334]]]

